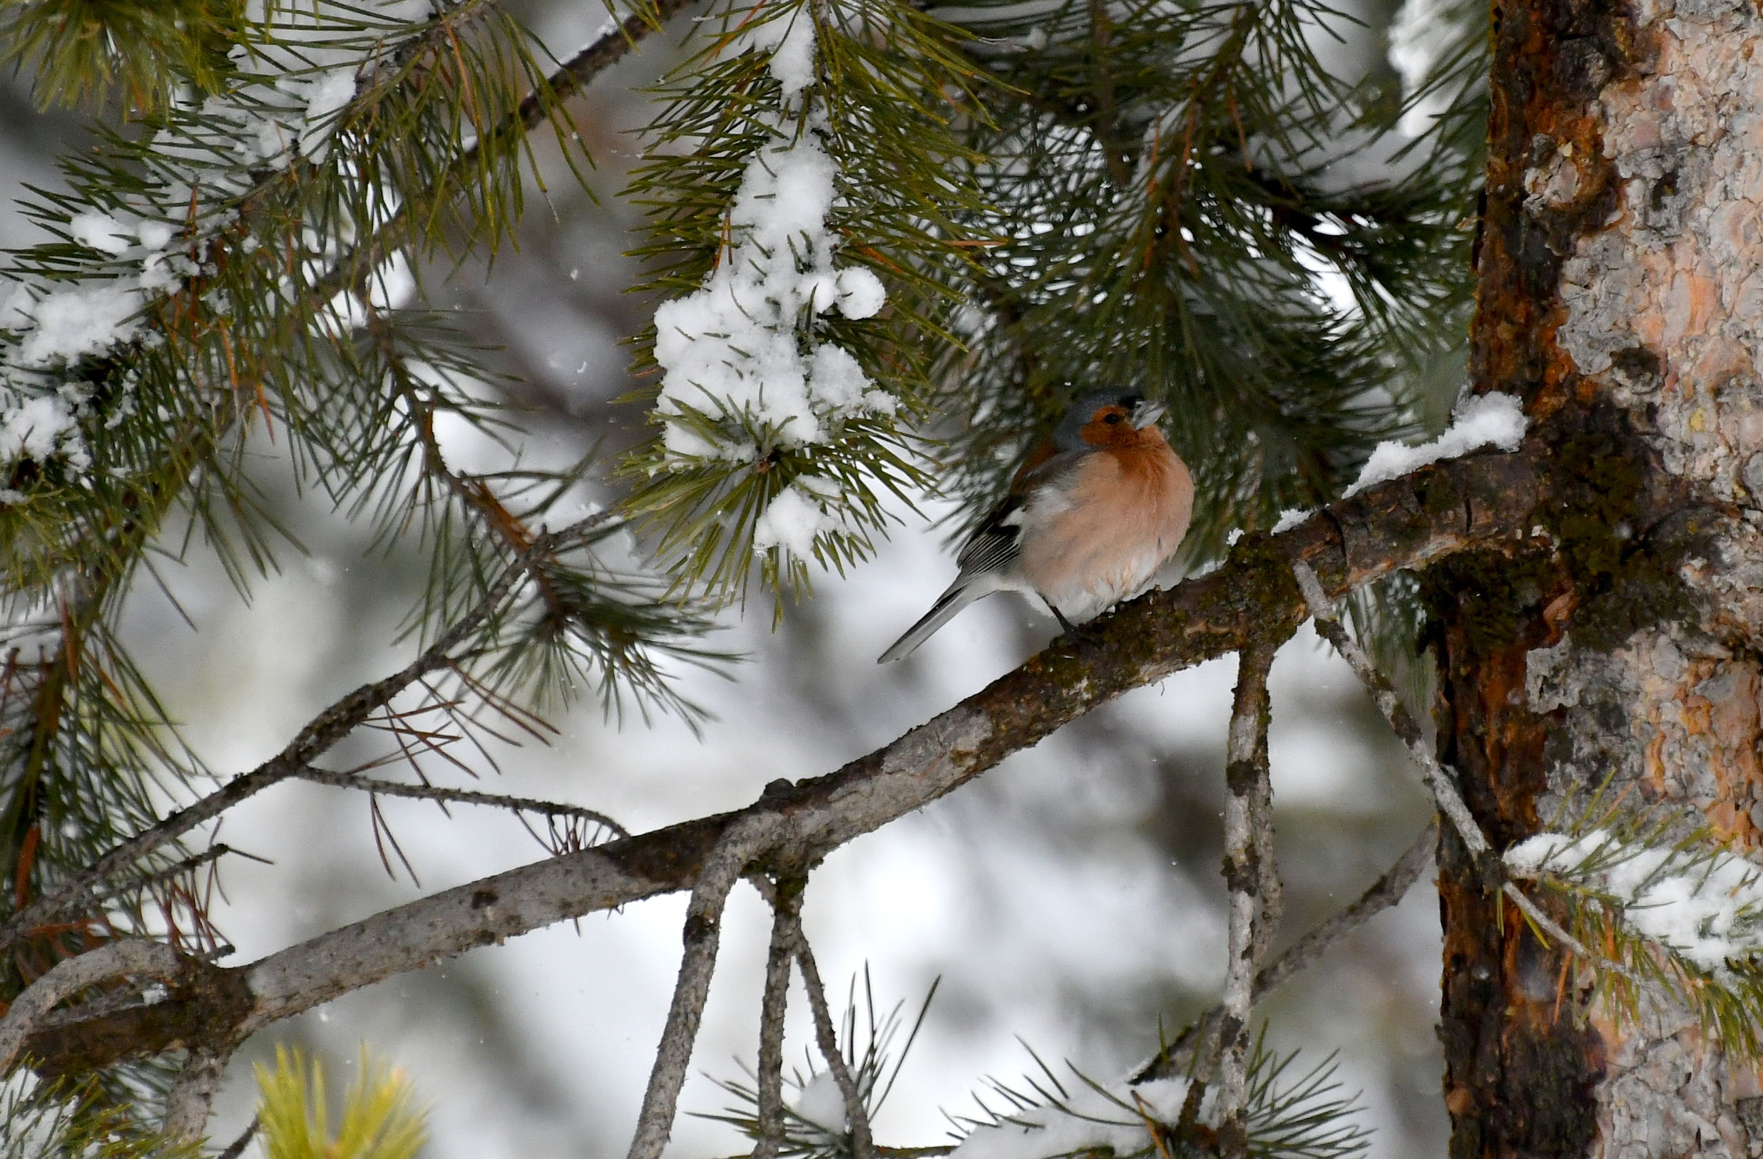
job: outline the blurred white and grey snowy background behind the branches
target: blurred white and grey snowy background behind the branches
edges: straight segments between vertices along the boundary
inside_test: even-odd
[[[520,5],[568,55],[603,25],[599,4]],[[1361,35],[1342,51],[1375,55]],[[605,439],[628,444],[643,416],[610,400],[629,389],[619,345],[654,303],[622,291],[636,280],[621,257],[635,211],[617,201],[645,120],[636,92],[670,60],[665,44],[601,78],[575,102],[599,169],[599,204],[568,178],[534,206],[520,250],[494,275],[467,264],[435,301],[460,308],[480,338],[504,347],[524,382],[529,458],[564,461]],[[78,144],[78,118],[35,113],[18,81],[0,86],[0,245],[39,240],[11,206],[25,185],[55,187],[53,157]],[[457,444],[458,467],[495,451]],[[254,587],[250,604],[199,550],[171,590],[196,622],[150,583],[125,638],[153,675],[194,747],[220,771],[275,752],[324,703],[395,669],[395,624],[421,576],[409,558],[367,557],[367,537],[312,495],[298,497],[275,447],[261,477],[309,548]],[[938,514],[934,506],[929,514]],[[714,643],[748,653],[735,680],[688,673],[682,687],[712,708],[702,736],[661,720],[626,727],[584,705],[557,720],[550,747],[501,754],[488,787],[605,810],[631,830],[751,801],[776,777],[823,773],[894,738],[1008,671],[1051,625],[1014,597],[961,615],[911,661],[874,655],[954,574],[950,551],[924,518],[848,580],[816,581],[816,597],[769,631],[769,608],[726,618]],[[880,1117],[889,1145],[945,1141],[945,1113],[973,1108],[986,1076],[1012,1080],[1033,1062],[1070,1059],[1116,1078],[1216,997],[1224,909],[1216,867],[1225,724],[1234,661],[1181,673],[1067,727],[978,782],[830,856],[806,907],[829,986],[843,997],[867,967],[883,1008],[915,1009],[941,978],[924,1034]],[[1285,937],[1345,904],[1409,844],[1426,817],[1396,743],[1347,668],[1305,631],[1273,669],[1273,775]],[[365,752],[354,750],[356,754]],[[344,763],[346,749],[335,754]],[[233,963],[338,923],[541,856],[506,817],[416,801],[383,803],[420,875],[390,879],[367,803],[338,789],[289,784],[252,800],[222,838],[272,865],[224,874],[220,928]],[[367,1041],[432,1101],[432,1159],[621,1155],[647,1080],[679,958],[684,897],[584,919],[478,949],[279,1023],[229,1071],[215,1138],[250,1115],[250,1062],[300,1041],[347,1071]],[[709,1076],[751,1064],[767,916],[748,886],[730,904],[686,1111],[719,1111]],[[1430,890],[1361,930],[1320,967],[1262,1008],[1271,1041],[1310,1060],[1340,1052],[1345,1085],[1363,1092],[1380,1159],[1444,1154],[1439,919]],[[802,1000],[792,1009],[792,1059],[807,1043]],[[682,1117],[672,1155],[728,1155],[740,1141],[721,1124]]]

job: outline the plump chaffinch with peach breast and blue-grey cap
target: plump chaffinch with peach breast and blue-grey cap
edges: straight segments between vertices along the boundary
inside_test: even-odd
[[[1194,516],[1194,477],[1157,430],[1162,414],[1118,388],[1072,403],[961,546],[961,574],[878,662],[911,655],[993,592],[1038,595],[1070,631],[1149,583]]]

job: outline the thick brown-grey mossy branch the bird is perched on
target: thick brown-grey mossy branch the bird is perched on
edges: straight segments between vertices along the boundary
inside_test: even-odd
[[[769,819],[779,865],[799,867],[966,784],[1067,722],[1174,671],[1243,648],[1305,604],[1292,562],[1329,599],[1402,567],[1523,535],[1541,502],[1548,449],[1453,460],[1335,504],[1278,535],[1250,535],[1218,571],[1149,592],[1060,639],[961,705],[844,768],[774,782],[733,814],[698,817],[448,890],[215,971],[152,1016],[125,1011],[32,1039],[44,1059],[100,1064],[171,1041],[249,1034],[279,1018],[474,946],[608,911],[698,881],[730,824]],[[763,861],[762,861],[763,863]]]

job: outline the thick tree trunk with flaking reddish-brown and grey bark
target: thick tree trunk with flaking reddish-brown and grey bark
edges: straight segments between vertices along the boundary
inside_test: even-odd
[[[1566,801],[1752,849],[1763,632],[1763,19],[1731,0],[1493,5],[1474,389],[1578,493],[1428,576],[1439,745],[1497,849]],[[1763,1155],[1756,1071],[1618,1025],[1440,844],[1453,1159]]]

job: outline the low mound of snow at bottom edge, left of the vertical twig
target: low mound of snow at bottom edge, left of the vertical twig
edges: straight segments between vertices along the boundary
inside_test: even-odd
[[[950,1159],[1047,1159],[1098,1147],[1130,1155],[1151,1147],[1144,1115],[1176,1122],[1188,1094],[1185,1078],[1137,1087],[1112,1083],[1104,1087],[1105,1094],[1082,1080],[1072,1087],[1061,1106],[1035,1106],[973,1127]]]

